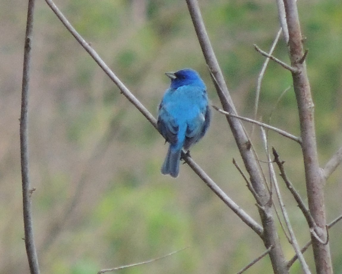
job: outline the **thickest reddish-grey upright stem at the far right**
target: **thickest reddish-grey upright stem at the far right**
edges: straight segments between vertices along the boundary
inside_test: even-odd
[[[327,238],[324,203],[325,178],[318,164],[314,103],[306,72],[296,2],[295,0],[284,0],[284,6],[289,31],[288,47],[291,66],[297,69],[297,72],[292,72],[292,78],[299,111],[308,205],[318,226],[316,233],[324,240]],[[332,273],[329,245],[321,244],[313,236],[312,241],[317,273]]]

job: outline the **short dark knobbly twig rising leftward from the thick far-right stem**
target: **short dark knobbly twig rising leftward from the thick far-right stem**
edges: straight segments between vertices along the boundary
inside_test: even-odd
[[[274,147],[272,148],[272,153],[273,153],[273,156],[274,156],[274,161],[278,165],[278,168],[279,168],[279,171],[280,171],[280,176],[284,180],[287,188],[290,190],[293,198],[296,200],[296,202],[298,204],[298,207],[302,211],[308,226],[310,228],[316,227],[315,220],[313,219],[312,215],[310,214],[310,211],[305,206],[305,204],[303,202],[303,199],[300,197],[298,191],[295,190],[295,188],[293,187],[292,183],[287,178],[286,173],[285,173],[285,169],[284,169],[284,162],[280,161],[279,155],[278,155],[278,153],[277,153],[277,151],[275,150]]]

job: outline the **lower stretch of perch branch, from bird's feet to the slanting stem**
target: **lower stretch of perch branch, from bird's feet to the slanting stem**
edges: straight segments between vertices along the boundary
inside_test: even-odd
[[[231,209],[240,217],[242,222],[253,229],[260,237],[263,235],[263,228],[253,220],[243,209],[241,209],[225,192],[215,184],[215,182],[196,164],[191,157],[182,152],[182,158],[192,168],[193,171],[206,183],[206,185]]]

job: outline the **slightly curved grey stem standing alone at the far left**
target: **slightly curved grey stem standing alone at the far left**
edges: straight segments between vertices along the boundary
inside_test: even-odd
[[[31,39],[33,29],[34,0],[28,1],[24,64],[23,64],[23,86],[20,117],[20,153],[22,169],[22,188],[23,188],[23,217],[25,230],[25,247],[31,274],[39,274],[37,251],[33,238],[32,213],[31,213],[31,194],[33,189],[30,186],[28,176],[28,137],[27,137],[27,113],[28,113],[28,86],[30,76],[31,61]]]

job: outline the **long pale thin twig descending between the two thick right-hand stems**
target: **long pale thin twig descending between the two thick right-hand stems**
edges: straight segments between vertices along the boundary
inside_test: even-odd
[[[263,143],[264,143],[264,148],[265,148],[265,151],[266,151],[266,156],[267,156],[267,159],[268,159],[268,166],[269,166],[269,171],[270,171],[270,174],[271,174],[271,178],[273,179],[273,184],[274,184],[274,187],[275,187],[275,190],[276,190],[276,194],[277,194],[277,197],[278,197],[280,209],[281,209],[282,215],[284,217],[284,220],[285,220],[288,232],[290,234],[290,238],[291,238],[290,244],[292,245],[295,253],[297,254],[297,256],[299,258],[299,261],[301,263],[303,272],[306,273],[306,274],[311,274],[310,269],[309,269],[307,263],[305,262],[303,254],[302,254],[302,252],[300,250],[300,247],[298,245],[297,239],[296,239],[296,237],[294,235],[294,232],[293,232],[293,229],[292,229],[292,226],[291,226],[291,223],[290,223],[289,216],[288,216],[287,211],[285,209],[284,202],[282,201],[282,197],[281,197],[281,194],[280,194],[279,186],[278,186],[278,183],[277,183],[276,174],[275,174],[272,162],[271,162],[271,157],[270,157],[270,155],[268,153],[268,145],[267,145],[266,133],[265,133],[265,130],[263,128],[261,128],[261,133],[262,133],[262,140],[263,140]]]

